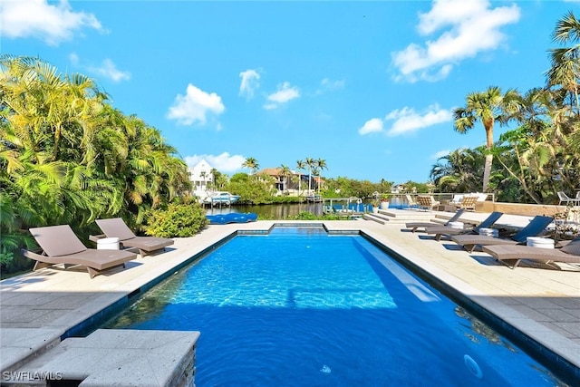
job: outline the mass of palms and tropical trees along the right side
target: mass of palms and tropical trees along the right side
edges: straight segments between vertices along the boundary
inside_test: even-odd
[[[486,192],[510,202],[557,203],[556,192],[580,189],[580,22],[573,13],[556,23],[546,85],[524,93],[497,87],[470,93],[455,113],[455,130],[477,121],[486,130],[486,147],[454,150],[438,160],[430,177],[441,191]],[[516,127],[493,141],[494,123]],[[498,162],[492,164],[492,160]]]

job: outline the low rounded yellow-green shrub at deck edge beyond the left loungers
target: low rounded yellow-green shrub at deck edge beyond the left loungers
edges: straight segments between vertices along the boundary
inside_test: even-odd
[[[198,204],[169,204],[151,210],[144,229],[155,237],[193,237],[207,224],[206,211]]]

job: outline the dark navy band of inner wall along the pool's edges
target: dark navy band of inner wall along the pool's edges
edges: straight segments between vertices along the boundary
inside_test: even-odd
[[[312,224],[312,223],[304,223],[304,224],[284,224],[284,223],[275,223],[274,227],[324,227],[323,224]],[[324,227],[326,230],[326,228]],[[269,233],[271,231],[268,230],[266,232]],[[326,230],[328,231],[328,230]],[[174,268],[161,276],[158,276],[154,281],[151,281],[149,284],[141,286],[140,289],[131,293],[126,298],[120,300],[115,305],[111,305],[109,308],[102,311],[101,314],[97,314],[93,316],[90,321],[87,321],[81,325],[76,326],[69,332],[63,335],[64,337],[68,336],[78,336],[78,335],[85,335],[92,330],[98,328],[104,321],[109,320],[112,315],[118,314],[121,310],[126,309],[129,305],[131,305],[134,301],[136,301],[140,295],[143,295],[148,290],[150,290],[155,285],[160,284],[163,280],[176,274],[179,270],[183,269],[186,266],[189,266],[192,262],[197,262],[199,259],[207,256],[212,251],[216,250],[218,247],[224,245],[227,241],[236,237],[237,235],[263,235],[265,232],[234,232],[224,239],[222,239],[218,244],[215,244],[211,247],[206,248],[204,251],[198,253],[195,256],[191,256],[187,261],[183,262],[179,267]],[[432,285],[433,287],[437,288],[441,291],[442,294],[447,295],[452,301],[454,301],[458,305],[462,305],[465,307],[466,310],[469,311],[470,314],[475,315],[478,319],[485,321],[487,324],[495,328],[500,334],[503,334],[508,340],[516,343],[520,348],[524,349],[527,353],[529,353],[532,357],[534,357],[539,363],[543,363],[546,365],[551,372],[554,372],[564,381],[575,382],[578,378],[578,369],[575,367],[574,364],[568,363],[565,359],[562,359],[560,356],[557,356],[556,353],[552,353],[551,351],[546,350],[544,346],[537,343],[536,341],[530,339],[526,334],[521,333],[513,326],[506,324],[504,321],[500,320],[495,314],[490,313],[484,307],[478,305],[478,303],[471,300],[468,296],[462,295],[457,292],[454,288],[447,285],[446,283],[442,282],[436,276],[432,276],[429,272],[423,270],[420,266],[417,266],[407,260],[404,256],[397,255],[391,248],[382,245],[380,242],[376,241],[374,238],[370,237],[369,235],[359,232],[358,230],[355,231],[341,231],[332,234],[340,234],[340,235],[361,235],[366,240],[372,242],[372,244],[376,247],[379,247],[382,251],[387,253],[390,256],[393,256],[402,266],[410,269],[411,272],[417,276],[420,276],[421,279]],[[203,333],[202,333],[203,334]]]

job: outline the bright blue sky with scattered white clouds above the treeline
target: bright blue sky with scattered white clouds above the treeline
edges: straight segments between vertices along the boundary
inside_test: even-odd
[[[0,51],[92,77],[193,166],[230,176],[323,159],[323,176],[426,182],[484,144],[451,111],[489,86],[545,84],[573,1],[0,3]],[[495,139],[505,129],[495,129]]]

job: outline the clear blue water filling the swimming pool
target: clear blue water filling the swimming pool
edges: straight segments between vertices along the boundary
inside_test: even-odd
[[[554,386],[514,344],[361,236],[237,236],[107,328],[200,331],[196,385]]]

